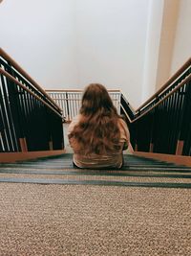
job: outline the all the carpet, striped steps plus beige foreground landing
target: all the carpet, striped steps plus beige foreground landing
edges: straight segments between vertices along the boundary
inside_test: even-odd
[[[133,155],[120,171],[74,169],[70,154],[2,164],[0,255],[191,255],[190,175]]]

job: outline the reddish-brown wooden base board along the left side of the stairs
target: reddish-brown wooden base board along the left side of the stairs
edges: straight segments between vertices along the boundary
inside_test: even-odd
[[[0,152],[0,163],[12,163],[16,161],[24,161],[39,157],[59,155],[65,153],[62,151],[28,151],[28,152]]]

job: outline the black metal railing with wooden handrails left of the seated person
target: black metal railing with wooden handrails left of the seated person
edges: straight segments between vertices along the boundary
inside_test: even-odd
[[[49,151],[63,147],[61,109],[0,49],[0,151]]]

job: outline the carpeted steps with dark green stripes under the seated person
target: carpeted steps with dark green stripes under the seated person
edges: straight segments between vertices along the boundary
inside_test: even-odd
[[[0,165],[0,182],[191,188],[191,168],[124,155],[121,170],[75,169],[71,153]]]

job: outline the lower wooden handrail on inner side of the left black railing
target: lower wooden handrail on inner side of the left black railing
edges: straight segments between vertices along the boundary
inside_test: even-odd
[[[62,117],[61,114],[59,114],[51,105],[48,105],[44,100],[42,100],[39,96],[37,96],[35,93],[33,93],[30,89],[28,89],[27,87],[25,87],[25,85],[23,85],[20,81],[17,81],[14,77],[12,77],[7,71],[5,71],[3,68],[0,67],[0,74],[3,74],[4,76],[6,76],[6,78],[10,79],[11,81],[14,81],[17,85],[19,85],[20,87],[22,87],[24,90],[26,90],[27,92],[29,92],[33,97],[35,97],[38,101],[42,102],[44,105],[47,105],[49,108],[51,108],[53,110],[53,112],[55,112],[57,115],[59,115],[60,117]],[[57,109],[59,111],[62,112],[61,108]]]

